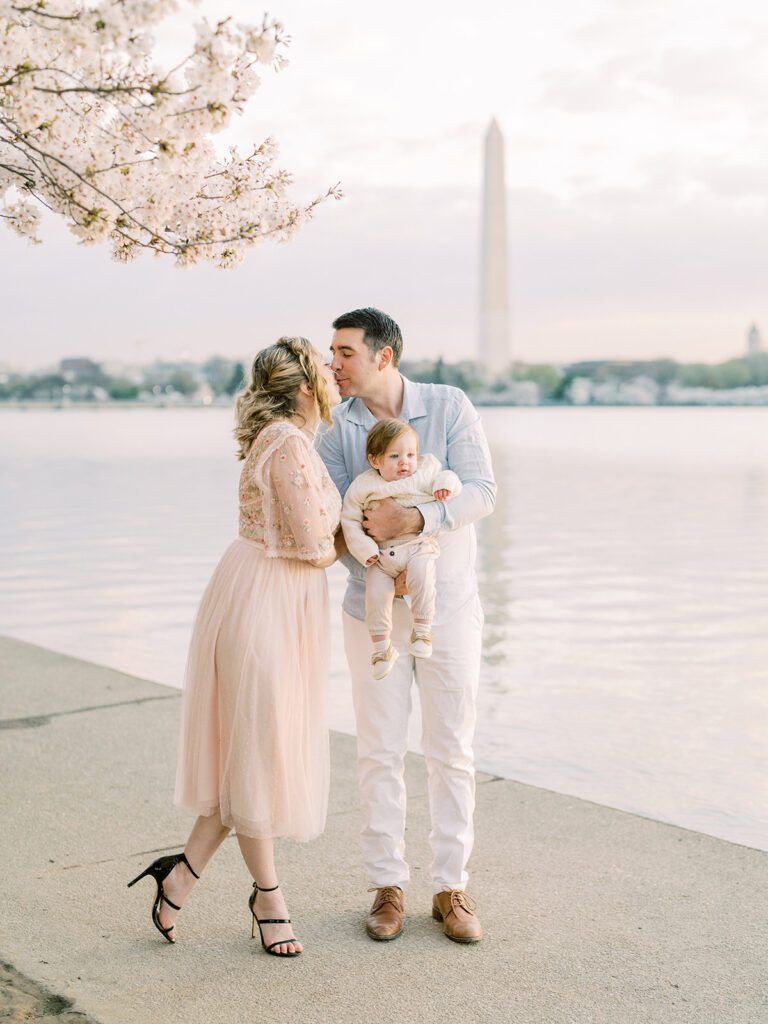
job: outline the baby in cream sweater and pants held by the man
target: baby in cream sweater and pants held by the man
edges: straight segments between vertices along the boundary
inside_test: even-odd
[[[411,508],[426,501],[444,502],[462,488],[450,469],[441,469],[433,455],[419,456],[419,436],[401,420],[380,420],[371,429],[366,455],[372,469],[349,485],[341,511],[347,547],[366,566],[366,623],[374,645],[374,679],[388,676],[397,659],[389,642],[392,632],[394,579],[408,570],[413,631],[409,651],[415,657],[432,653],[435,563],[440,548],[433,537],[407,534],[381,547],[362,529],[362,518],[383,498]]]

